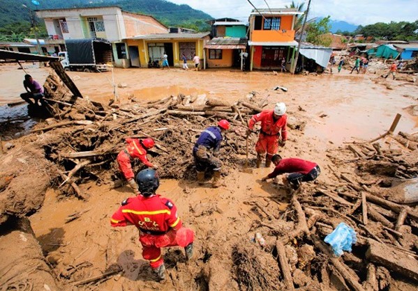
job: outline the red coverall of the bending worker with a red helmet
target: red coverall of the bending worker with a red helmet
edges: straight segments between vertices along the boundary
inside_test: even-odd
[[[126,180],[130,180],[135,177],[132,171],[132,165],[130,164],[131,158],[134,159],[137,157],[149,168],[152,168],[153,164],[147,159],[147,150],[141,146],[139,139],[126,139],[126,142],[128,146],[117,155],[117,163],[119,164],[119,170],[124,174]]]

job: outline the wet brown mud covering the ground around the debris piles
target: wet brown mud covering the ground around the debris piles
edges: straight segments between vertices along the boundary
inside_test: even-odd
[[[28,68],[29,74],[38,76],[38,81],[43,81],[42,77],[47,75],[45,70],[48,69]],[[69,74],[84,97],[104,103],[113,98],[111,72]],[[22,70],[14,65],[1,66],[0,75],[3,88],[9,86],[7,79],[23,78]],[[334,182],[333,173],[329,171],[334,162],[329,159],[329,152],[349,159],[344,156],[347,153],[336,154],[344,142],[373,139],[384,133],[396,113],[402,114],[396,131],[417,131],[418,117],[413,116],[414,111],[410,109],[417,104],[414,99],[418,97],[417,84],[378,76],[348,74],[348,70],[320,76],[229,70],[114,70],[115,83],[123,85],[121,87],[126,85],[126,88],[117,88],[122,104],[157,100],[178,93],[204,93],[233,102],[246,100],[252,91],[257,97],[266,98],[269,104],[285,102],[288,115],[303,118],[307,124],[304,132],[289,129],[289,141],[281,149],[281,155],[318,162],[323,169],[318,178],[320,184]],[[276,86],[285,86],[288,92],[275,91]],[[13,86],[7,95],[1,95],[0,101],[17,101],[20,91],[20,87]],[[7,108],[2,110],[7,113]],[[3,134],[2,139],[5,139]],[[8,136],[8,139],[16,147],[27,143],[24,138]],[[256,136],[252,136],[251,146],[255,141]],[[387,147],[400,148],[391,139],[385,143]],[[175,146],[188,147],[191,152],[191,145]],[[241,158],[243,162],[244,156]],[[251,154],[251,166],[254,158]],[[164,164],[160,166],[164,167]],[[244,263],[245,250],[253,249],[252,255],[260,256],[255,265],[264,267],[265,272],[278,271],[273,257],[254,249],[256,246],[251,243],[254,223],[260,220],[260,213],[254,211],[251,203],[262,203],[270,212],[276,211],[277,217],[283,217],[287,215],[286,207],[291,197],[283,187],[260,181],[272,168],[256,168],[253,173],[244,173],[241,168],[242,163],[230,165],[229,174],[224,178],[225,185],[218,189],[212,189],[210,181],[203,186],[189,180],[161,182],[158,192],[176,203],[184,224],[193,228],[196,234],[195,257],[190,262],[186,262],[183,250],[165,249],[169,276],[163,282],[156,281],[148,263],[142,259],[137,230],[110,227],[112,213],[122,200],[131,196],[128,187],[109,189],[108,185],[95,182],[81,184],[80,189],[89,194],[87,201],[58,195],[58,191],[48,189],[43,207],[30,217],[31,227],[58,280],[57,285],[63,290],[251,290],[250,285],[242,285],[246,281],[240,277],[248,271],[245,270],[248,269]],[[186,169],[179,168],[179,171]],[[350,167],[347,166],[345,171],[350,171]],[[66,222],[68,216],[77,212],[82,212],[80,217]],[[6,244],[2,243],[1,248],[10,247],[11,251],[16,251]],[[237,261],[242,264],[237,265]],[[123,274],[78,288],[72,286],[75,281],[102,274],[117,264],[124,269]],[[399,281],[391,284],[390,290],[414,289],[413,284],[403,285]]]

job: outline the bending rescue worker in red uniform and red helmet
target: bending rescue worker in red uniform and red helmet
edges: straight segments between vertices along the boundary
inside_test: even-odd
[[[147,150],[153,148],[155,143],[153,139],[126,139],[126,143],[128,143],[128,146],[117,155],[117,163],[119,164],[119,170],[124,174],[129,186],[137,194],[138,187],[134,180],[135,175],[130,162],[133,162],[133,159],[137,158],[148,168],[156,168],[147,159]]]

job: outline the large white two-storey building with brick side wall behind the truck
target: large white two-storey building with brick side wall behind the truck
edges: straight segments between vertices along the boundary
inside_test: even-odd
[[[37,10],[36,15],[45,21],[50,35],[46,40],[48,43],[64,44],[68,39],[105,38],[112,42],[114,65],[120,67],[130,65],[130,54],[122,40],[168,32],[168,27],[154,17],[130,13],[119,6]]]

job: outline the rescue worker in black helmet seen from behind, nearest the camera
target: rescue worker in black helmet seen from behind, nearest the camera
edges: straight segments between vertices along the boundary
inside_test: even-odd
[[[140,195],[124,200],[112,215],[110,223],[114,227],[134,225],[140,230],[142,256],[149,260],[153,271],[163,280],[165,265],[161,248],[182,246],[187,260],[190,260],[195,234],[190,228],[182,226],[172,200],[156,194],[160,180],[154,169],[140,171],[136,180]]]

